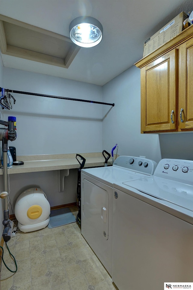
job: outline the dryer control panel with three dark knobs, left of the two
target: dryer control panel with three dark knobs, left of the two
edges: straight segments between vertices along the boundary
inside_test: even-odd
[[[153,175],[157,163],[147,158],[119,156],[113,163],[113,166]]]

